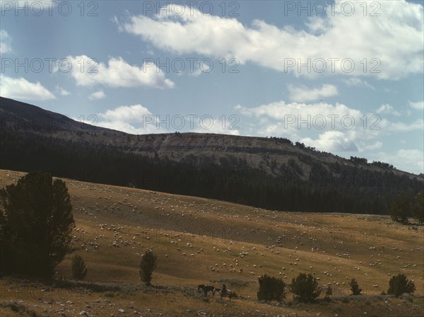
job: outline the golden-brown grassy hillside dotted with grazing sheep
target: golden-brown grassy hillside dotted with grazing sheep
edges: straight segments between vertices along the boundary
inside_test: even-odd
[[[24,173],[1,171],[1,187]],[[387,216],[276,212],[230,202],[65,180],[86,261],[85,282],[57,286],[0,279],[0,316],[424,316],[424,227]],[[141,255],[158,255],[153,287],[139,279]],[[57,279],[71,279],[71,257]],[[331,284],[329,303],[257,301],[258,277],[287,283],[299,272]],[[414,296],[387,292],[404,273]],[[362,296],[350,296],[355,278]],[[204,299],[197,284],[223,282],[238,299]],[[98,289],[93,289],[93,285]],[[323,296],[323,295],[322,295]]]

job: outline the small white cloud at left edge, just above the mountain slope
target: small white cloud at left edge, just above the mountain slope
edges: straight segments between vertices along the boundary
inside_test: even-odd
[[[32,83],[23,77],[1,76],[1,96],[19,100],[49,100],[56,98],[40,81]]]

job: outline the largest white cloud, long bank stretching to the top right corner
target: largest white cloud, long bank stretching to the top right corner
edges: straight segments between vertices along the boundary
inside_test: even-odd
[[[139,35],[161,50],[235,57],[242,64],[254,62],[295,75],[318,76],[324,64],[326,74],[350,77],[399,79],[423,73],[423,6],[404,0],[381,1],[377,17],[364,15],[359,7],[352,16],[346,16],[341,11],[345,2],[336,1],[334,15],[311,18],[300,30],[290,25],[278,28],[260,20],[243,25],[235,18],[206,16],[196,9],[186,10],[182,16],[172,16],[165,10],[153,18],[131,16],[119,29]],[[179,11],[177,7],[172,4],[174,11]],[[338,60],[331,65],[329,58]],[[352,71],[350,63],[342,65],[343,59],[353,60]],[[299,62],[308,61],[312,71],[298,68]],[[295,62],[296,67],[288,67],[289,62]]]

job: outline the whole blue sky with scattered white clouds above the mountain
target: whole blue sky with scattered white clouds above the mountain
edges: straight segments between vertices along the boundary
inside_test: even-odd
[[[424,172],[422,1],[0,1],[0,95]]]

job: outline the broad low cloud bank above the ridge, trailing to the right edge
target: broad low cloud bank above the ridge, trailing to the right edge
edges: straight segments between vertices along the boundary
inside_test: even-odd
[[[390,121],[341,103],[278,101],[253,108],[237,105],[235,110],[256,119],[254,126],[248,127],[247,133],[263,137],[288,137],[322,151],[375,150],[382,147],[379,141],[381,137],[424,130],[422,119]]]

